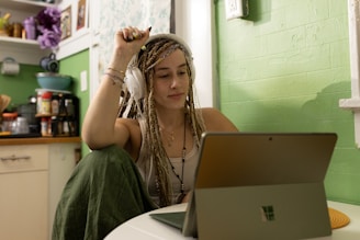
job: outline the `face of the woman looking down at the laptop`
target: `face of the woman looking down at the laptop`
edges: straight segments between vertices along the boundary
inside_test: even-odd
[[[157,107],[183,108],[189,91],[189,72],[182,50],[172,54],[155,66],[154,99]]]

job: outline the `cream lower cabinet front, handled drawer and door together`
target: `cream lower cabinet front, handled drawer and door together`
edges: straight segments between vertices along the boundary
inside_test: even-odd
[[[46,146],[0,147],[0,239],[48,237]]]

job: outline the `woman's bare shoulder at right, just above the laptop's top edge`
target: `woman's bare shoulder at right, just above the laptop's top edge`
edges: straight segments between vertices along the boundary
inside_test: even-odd
[[[204,119],[206,130],[211,132],[237,132],[237,127],[227,116],[215,107],[198,108]]]

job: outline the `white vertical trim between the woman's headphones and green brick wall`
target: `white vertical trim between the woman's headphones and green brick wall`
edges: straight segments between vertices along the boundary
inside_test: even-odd
[[[217,75],[214,35],[214,3],[209,0],[176,2],[176,34],[191,47],[196,69],[195,88],[200,105],[217,106]]]

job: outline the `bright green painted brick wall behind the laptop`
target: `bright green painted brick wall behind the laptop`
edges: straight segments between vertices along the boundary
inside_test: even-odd
[[[244,132],[334,132],[329,199],[360,204],[346,0],[249,0],[247,20],[215,2],[221,110]]]

